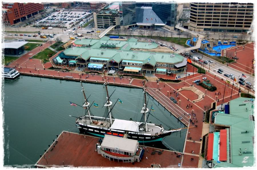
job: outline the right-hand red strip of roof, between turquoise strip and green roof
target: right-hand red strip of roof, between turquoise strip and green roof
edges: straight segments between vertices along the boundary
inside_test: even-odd
[[[227,130],[220,130],[220,161],[227,160]]]

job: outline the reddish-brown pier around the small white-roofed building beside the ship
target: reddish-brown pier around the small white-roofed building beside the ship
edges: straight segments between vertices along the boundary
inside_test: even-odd
[[[174,152],[164,150],[161,155],[153,150],[160,150],[152,147],[145,148],[144,155],[140,162],[123,163],[118,161],[109,161],[109,159],[97,154],[96,144],[99,138],[88,135],[82,135],[72,132],[62,132],[57,138],[58,142],[53,148],[53,144],[48,148],[45,154],[35,164],[37,167],[141,167],[149,168],[151,163],[158,163],[161,167],[178,168],[182,157],[176,157]],[[148,150],[148,152],[147,152]],[[161,151],[161,150],[160,150]],[[45,157],[46,159],[45,159]],[[147,157],[147,159],[146,159]]]

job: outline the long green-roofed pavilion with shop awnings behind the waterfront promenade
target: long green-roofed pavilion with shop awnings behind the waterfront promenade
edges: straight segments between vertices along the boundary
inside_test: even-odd
[[[126,73],[176,74],[186,71],[187,59],[182,55],[140,51],[140,49],[157,48],[158,44],[137,42],[135,38],[127,41],[110,40],[109,37],[103,37],[100,40],[81,39],[76,40],[73,46],[59,56],[61,59],[76,59],[77,65],[88,69],[98,68],[99,70],[100,64],[109,70],[123,71],[126,67],[124,70]],[[133,48],[137,51],[132,51]],[[91,63],[90,66],[98,65],[89,68],[89,63]]]

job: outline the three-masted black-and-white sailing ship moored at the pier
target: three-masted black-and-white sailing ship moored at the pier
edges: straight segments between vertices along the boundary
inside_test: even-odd
[[[82,82],[82,92],[85,98],[85,102],[83,104],[83,108],[86,109],[85,115],[81,117],[77,117],[76,119],[76,126],[79,128],[80,133],[83,134],[89,134],[97,137],[103,138],[105,134],[108,135],[115,135],[123,138],[128,139],[134,139],[138,140],[138,142],[156,142],[156,141],[162,141],[162,138],[165,136],[169,136],[173,132],[178,132],[180,129],[173,129],[173,130],[165,130],[161,125],[156,125],[154,123],[148,123],[147,119],[150,115],[149,109],[147,108],[146,103],[146,82],[144,81],[144,103],[141,109],[142,113],[142,121],[136,122],[132,120],[122,120],[122,119],[115,119],[112,115],[112,109],[114,106],[112,106],[112,101],[110,99],[111,96],[109,96],[108,89],[107,89],[107,81],[105,77],[105,90],[107,93],[106,101],[104,103],[105,109],[105,117],[98,117],[94,116],[89,108],[92,106],[89,106],[90,103],[87,100],[87,97],[85,95],[85,90],[83,88]],[[112,95],[112,94],[111,94]],[[120,99],[117,99],[117,101]],[[117,103],[115,102],[115,104]],[[72,105],[73,103],[71,103]],[[114,104],[114,105],[115,105]],[[95,105],[95,103],[94,103]],[[144,119],[144,121],[143,121]]]

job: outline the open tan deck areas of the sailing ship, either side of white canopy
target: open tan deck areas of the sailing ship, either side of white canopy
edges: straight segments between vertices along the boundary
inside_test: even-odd
[[[77,120],[78,123],[82,123],[82,124],[87,124],[90,126],[94,126],[94,127],[102,127],[102,128],[110,128],[110,123],[109,123],[109,119],[108,121],[103,121],[103,120],[95,120],[92,117],[92,121],[93,123],[90,124],[90,120],[89,117],[87,116],[87,119],[81,119],[81,120]],[[140,127],[144,127],[144,124],[141,124]],[[151,134],[151,136],[154,136],[156,133],[160,134],[161,132],[161,128],[159,126],[155,126],[153,124],[147,124],[147,128],[149,129],[149,131],[144,131],[144,130],[139,130],[139,133],[147,133],[147,134]]]

